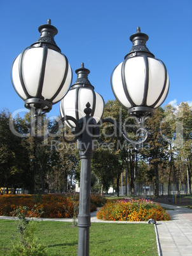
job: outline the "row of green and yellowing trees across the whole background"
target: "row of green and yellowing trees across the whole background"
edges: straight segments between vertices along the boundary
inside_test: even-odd
[[[137,125],[118,101],[107,101],[106,117],[113,118],[128,132],[129,137],[136,138]],[[54,122],[42,117],[40,135],[46,135],[46,128],[50,131]],[[62,127],[43,142],[35,141],[32,137],[25,138],[29,134],[30,124],[30,113],[13,120],[8,110],[0,112],[0,187],[25,188],[30,194],[69,192],[72,179],[75,177],[79,180],[80,177],[76,143],[69,145],[64,142]],[[10,128],[20,136],[16,136]],[[158,108],[154,116],[146,121],[146,129],[149,134],[146,145],[135,148],[125,142],[114,125],[101,125],[101,140],[109,142],[113,135],[114,140],[109,145],[98,143],[93,153],[93,192],[99,191],[99,183],[100,191],[113,186],[118,192],[120,175],[125,169],[133,195],[137,184],[146,183],[155,185],[156,195],[164,183],[168,183],[169,188],[174,183],[178,191],[183,184],[188,185],[189,192],[192,173],[191,106],[181,103],[177,108],[170,105],[164,109]]]

